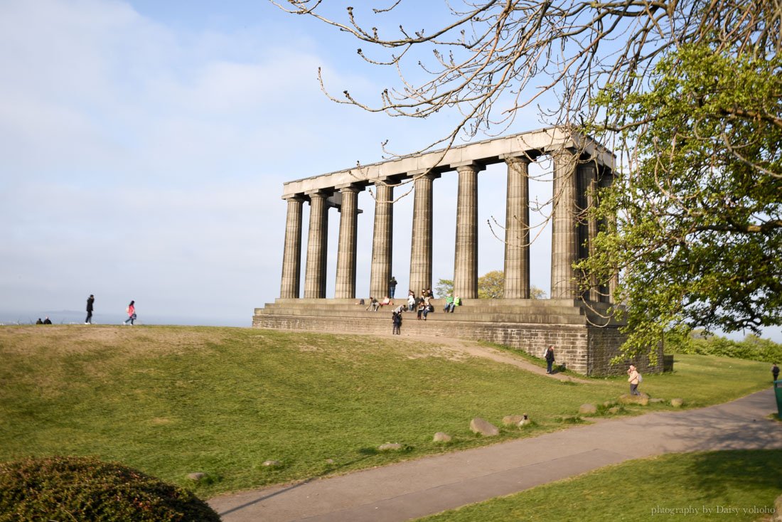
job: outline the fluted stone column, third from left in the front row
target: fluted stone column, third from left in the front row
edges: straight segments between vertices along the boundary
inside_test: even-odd
[[[334,297],[337,299],[356,297],[356,232],[359,190],[361,189],[354,185],[339,189],[339,192],[342,193],[342,207],[339,209],[337,279],[334,287]]]

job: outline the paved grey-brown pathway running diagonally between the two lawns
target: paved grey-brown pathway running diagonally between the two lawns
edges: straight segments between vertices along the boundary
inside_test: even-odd
[[[539,437],[211,499],[224,522],[396,522],[669,452],[782,448],[773,389],[724,405],[607,419]]]

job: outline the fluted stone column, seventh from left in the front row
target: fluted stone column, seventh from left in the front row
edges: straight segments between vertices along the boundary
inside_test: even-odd
[[[508,157],[505,196],[505,299],[529,299],[529,163]]]

